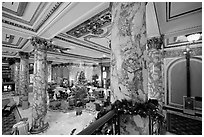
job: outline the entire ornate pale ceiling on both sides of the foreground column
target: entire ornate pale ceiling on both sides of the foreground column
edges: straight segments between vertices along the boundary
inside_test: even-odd
[[[148,37],[202,32],[201,2],[149,2],[147,7]],[[106,62],[110,59],[110,30],[109,2],[2,3],[3,57],[19,57],[19,51],[32,52],[29,39],[38,36],[66,49],[48,51],[48,60],[54,64]]]

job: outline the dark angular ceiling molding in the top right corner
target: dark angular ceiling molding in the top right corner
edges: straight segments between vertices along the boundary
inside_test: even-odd
[[[200,12],[201,10],[202,10],[202,4],[201,4],[201,7],[199,8],[191,9],[185,12],[177,13],[176,15],[172,15],[172,2],[166,2],[166,22],[169,22],[171,20],[186,16],[186,15],[194,14],[196,12]]]

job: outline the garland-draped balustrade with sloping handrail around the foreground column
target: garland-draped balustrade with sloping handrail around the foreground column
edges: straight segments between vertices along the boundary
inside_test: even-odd
[[[120,117],[122,114],[132,114],[142,113],[141,108],[147,108],[146,116],[149,118],[149,134],[150,135],[160,135],[163,134],[164,129],[164,116],[159,113],[158,106],[152,101],[148,101],[146,104],[138,104],[136,109],[133,107],[135,114],[124,109],[119,102],[113,104],[110,110],[101,110],[96,118],[96,121],[91,123],[87,128],[82,130],[78,135],[120,135]],[[128,107],[127,107],[128,108]],[[125,112],[125,113],[124,113]],[[140,114],[139,114],[140,115]]]

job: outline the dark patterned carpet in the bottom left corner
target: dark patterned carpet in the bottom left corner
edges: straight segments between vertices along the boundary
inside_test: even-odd
[[[2,113],[2,115],[4,114]],[[8,116],[2,116],[2,135],[10,135],[13,125],[16,123],[13,111]]]

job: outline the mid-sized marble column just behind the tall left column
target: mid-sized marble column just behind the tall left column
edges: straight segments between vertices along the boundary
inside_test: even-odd
[[[29,87],[29,54],[26,52],[19,52],[20,56],[20,100],[19,104],[22,105],[22,109],[29,108],[28,102],[28,87]]]

